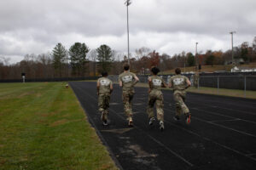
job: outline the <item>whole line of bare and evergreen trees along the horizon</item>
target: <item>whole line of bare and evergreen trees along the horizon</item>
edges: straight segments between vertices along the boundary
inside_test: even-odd
[[[233,56],[236,64],[256,62],[256,37],[253,38],[252,45],[242,42],[234,47]],[[24,59],[12,65],[9,65],[8,58],[0,56],[0,79],[20,79],[22,72],[26,73],[27,78],[98,76],[102,71],[119,74],[127,60],[124,53],[115,51],[106,44],[90,49],[84,42],[75,42],[67,50],[59,42],[51,53],[26,54]],[[191,52],[182,52],[170,56],[143,47],[135,50],[130,61],[131,71],[148,74],[152,65],[160,67],[161,71],[183,66],[230,65],[232,51],[207,50],[205,54],[200,52],[196,56]]]

